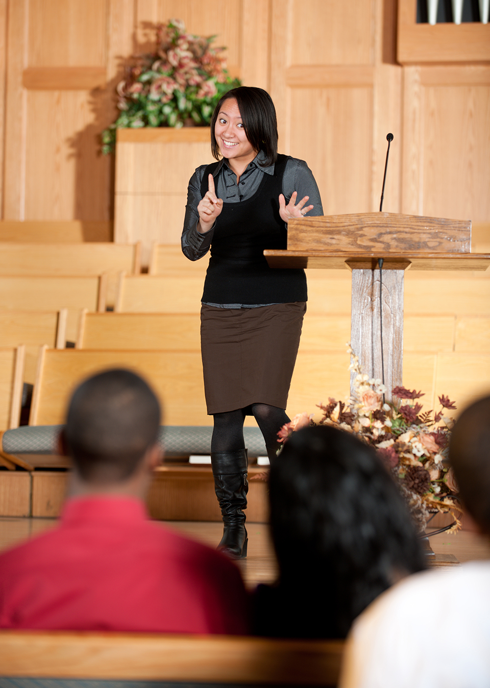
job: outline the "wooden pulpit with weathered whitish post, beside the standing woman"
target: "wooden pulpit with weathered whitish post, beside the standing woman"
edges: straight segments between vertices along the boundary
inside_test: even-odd
[[[370,377],[383,378],[382,325],[387,399],[402,385],[405,270],[487,270],[490,265],[490,255],[471,253],[471,221],[396,213],[292,219],[287,250],[264,255],[271,268],[352,270],[352,348]]]

